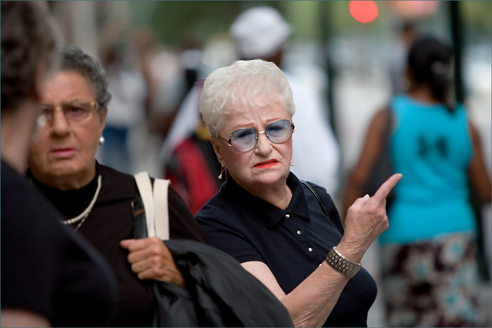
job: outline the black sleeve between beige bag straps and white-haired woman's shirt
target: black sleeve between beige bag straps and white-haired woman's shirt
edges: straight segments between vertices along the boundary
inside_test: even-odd
[[[210,244],[183,198],[169,185],[169,234],[171,239],[191,239]]]

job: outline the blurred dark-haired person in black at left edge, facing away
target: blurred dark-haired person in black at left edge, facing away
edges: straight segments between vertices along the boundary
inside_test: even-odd
[[[109,266],[21,177],[57,62],[53,27],[42,2],[0,8],[1,327],[103,327],[115,298]]]

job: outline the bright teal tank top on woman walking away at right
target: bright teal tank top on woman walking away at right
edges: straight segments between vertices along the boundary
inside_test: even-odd
[[[390,226],[380,243],[406,244],[441,234],[473,231],[467,169],[472,156],[466,113],[461,104],[450,113],[444,105],[393,98],[390,140],[395,187],[388,210]]]

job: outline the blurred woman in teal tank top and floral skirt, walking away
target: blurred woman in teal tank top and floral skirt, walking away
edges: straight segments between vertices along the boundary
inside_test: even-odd
[[[404,174],[388,210],[382,245],[390,327],[480,327],[476,222],[468,180],[491,202],[477,130],[460,103],[450,101],[453,53],[433,37],[410,49],[410,88],[390,103],[390,154]],[[361,193],[381,151],[385,111],[376,114],[344,194]]]

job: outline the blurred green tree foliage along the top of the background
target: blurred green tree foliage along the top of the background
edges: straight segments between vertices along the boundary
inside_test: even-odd
[[[110,1],[113,2],[113,1]],[[120,1],[115,1],[120,2]],[[122,1],[126,2],[126,1]],[[386,1],[375,1],[379,17],[368,24],[356,22],[349,13],[349,1],[128,1],[129,18],[134,26],[149,26],[164,44],[202,46],[212,34],[227,32],[236,16],[247,8],[268,5],[277,8],[292,24],[294,39],[321,41],[330,35],[355,30],[381,32],[397,28],[398,20]],[[465,26],[474,31],[492,26],[492,1],[460,1]],[[444,4],[444,3],[443,3]],[[446,11],[441,5],[441,10]],[[447,16],[447,12],[444,14]],[[418,20],[425,24],[434,18]],[[420,24],[419,23],[419,24]],[[447,29],[446,29],[447,30]]]

